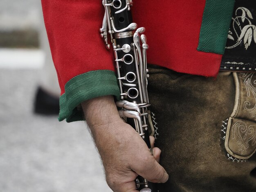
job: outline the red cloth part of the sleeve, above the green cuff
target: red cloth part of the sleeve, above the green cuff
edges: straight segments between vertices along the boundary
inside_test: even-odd
[[[99,36],[104,8],[97,0],[42,0],[43,14],[61,94],[73,77],[114,71],[112,53]]]

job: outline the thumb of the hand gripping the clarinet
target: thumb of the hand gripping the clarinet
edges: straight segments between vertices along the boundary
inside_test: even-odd
[[[165,183],[169,176],[164,170],[164,167],[159,165],[155,158],[150,155],[144,158],[144,161],[139,163],[138,169],[133,169],[137,174],[153,183]]]

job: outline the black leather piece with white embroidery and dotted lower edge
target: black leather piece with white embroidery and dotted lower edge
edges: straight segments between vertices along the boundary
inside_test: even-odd
[[[236,0],[221,71],[256,72],[255,7],[255,0]]]

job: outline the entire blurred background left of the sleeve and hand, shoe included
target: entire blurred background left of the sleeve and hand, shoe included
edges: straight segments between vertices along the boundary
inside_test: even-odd
[[[42,18],[40,0],[0,0],[0,192],[111,192],[85,122],[58,122]]]

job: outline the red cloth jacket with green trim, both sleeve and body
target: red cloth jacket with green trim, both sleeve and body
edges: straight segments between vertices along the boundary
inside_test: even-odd
[[[209,2],[207,7],[205,0],[134,0],[134,22],[139,27],[146,27],[150,46],[148,63],[188,74],[216,76],[223,53],[207,49],[211,39],[205,35],[207,31],[203,29],[202,21],[214,26],[214,20],[213,23],[206,20],[220,17],[214,14],[220,8],[211,10],[216,3]],[[231,10],[230,13],[226,11],[226,25],[222,26],[227,37],[234,0],[223,0],[222,3],[225,2],[229,2]],[[115,79],[110,78],[115,70],[113,52],[106,50],[99,36],[103,5],[101,0],[42,0],[42,5],[61,87],[59,120],[81,120],[82,112],[76,106],[83,100],[106,94],[119,95]],[[220,25],[219,21],[216,25]],[[223,39],[224,49],[226,39]],[[106,90],[106,87],[115,91]]]

